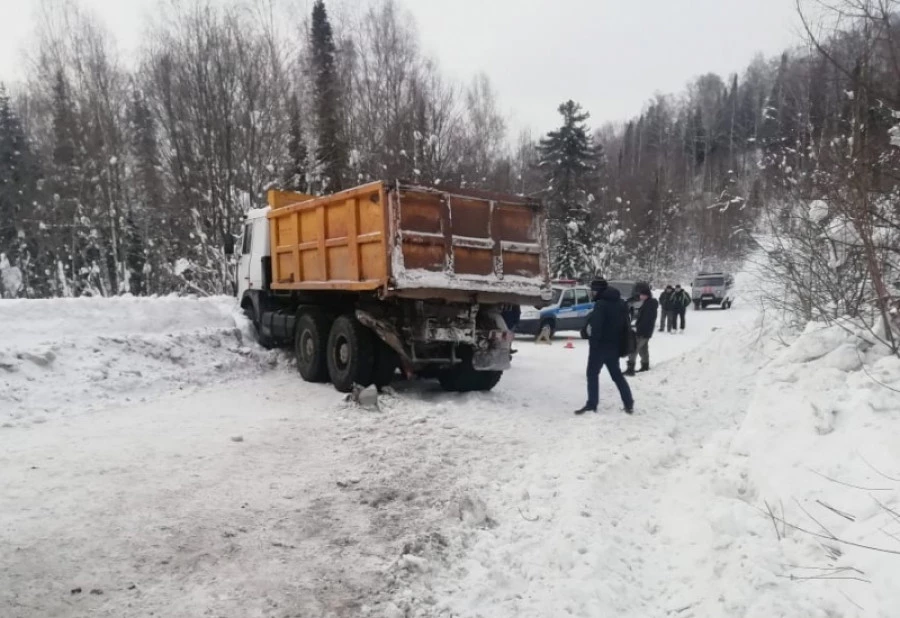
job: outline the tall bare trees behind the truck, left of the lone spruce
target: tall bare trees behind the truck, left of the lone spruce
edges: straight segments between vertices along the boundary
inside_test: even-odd
[[[227,292],[272,186],[511,189],[489,81],[445,79],[392,0],[339,24],[316,2],[291,39],[265,1],[164,6],[135,67],[76,2],[42,6],[28,79],[0,91],[8,295]]]

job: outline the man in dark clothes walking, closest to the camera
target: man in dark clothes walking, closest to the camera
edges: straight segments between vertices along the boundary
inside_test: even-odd
[[[634,412],[634,398],[628,381],[622,375],[619,366],[620,351],[627,331],[631,325],[628,319],[628,305],[622,300],[622,294],[611,288],[605,279],[591,282],[594,294],[594,311],[591,314],[590,351],[588,352],[587,390],[588,400],[575,414],[587,411],[596,412],[600,403],[600,370],[606,367],[609,377],[619,389],[625,412]]]

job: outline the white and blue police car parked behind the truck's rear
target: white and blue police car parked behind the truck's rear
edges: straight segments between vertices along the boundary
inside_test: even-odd
[[[552,337],[562,330],[581,332],[586,337],[588,317],[594,309],[591,289],[576,282],[554,282],[550,303],[543,309],[522,309],[516,332],[535,337]]]

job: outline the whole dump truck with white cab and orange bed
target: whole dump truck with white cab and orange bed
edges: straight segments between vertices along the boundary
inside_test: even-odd
[[[402,370],[487,391],[511,361],[507,305],[549,299],[539,201],[374,182],[251,210],[237,295],[260,342],[292,346],[303,379],[385,386]]]

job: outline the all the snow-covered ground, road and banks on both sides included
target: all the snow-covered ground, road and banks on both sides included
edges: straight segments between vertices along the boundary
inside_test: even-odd
[[[900,361],[739,301],[657,333],[627,416],[585,342],[494,392],[302,382],[230,299],[0,301],[0,615],[877,617]],[[136,373],[135,373],[136,372]]]

